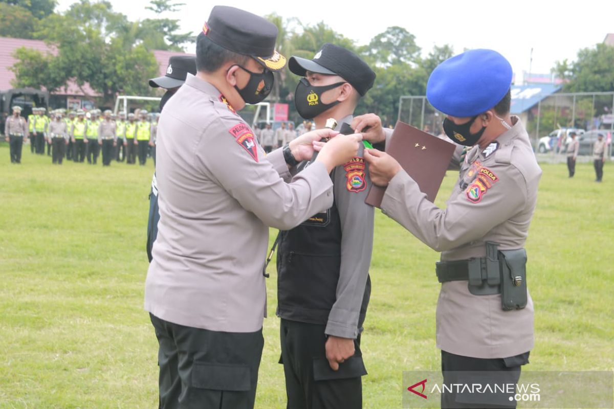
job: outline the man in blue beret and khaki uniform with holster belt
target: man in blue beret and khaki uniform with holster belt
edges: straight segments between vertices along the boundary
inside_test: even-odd
[[[510,115],[511,78],[510,63],[492,50],[449,58],[430,75],[427,99],[446,115],[446,135],[473,147],[445,210],[427,200],[392,156],[365,151],[371,180],[387,186],[382,212],[441,251],[437,346],[446,384],[478,381],[456,371],[488,371],[493,383],[515,384],[534,344],[523,247],[542,170],[522,122]],[[367,133],[384,139],[375,115],[354,120],[355,129],[370,126]],[[443,392],[442,408],[515,407],[508,394],[478,403]]]

